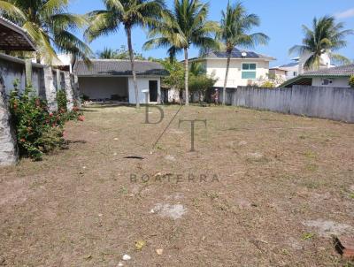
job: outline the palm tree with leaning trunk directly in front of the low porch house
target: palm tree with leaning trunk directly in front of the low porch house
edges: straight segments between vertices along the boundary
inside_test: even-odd
[[[127,34],[127,47],[133,72],[136,107],[140,107],[139,91],[136,83],[135,56],[132,44],[133,27],[152,27],[157,25],[164,0],[103,0],[106,10],[89,13],[90,26],[85,35],[92,42],[97,37],[118,31],[123,24]]]

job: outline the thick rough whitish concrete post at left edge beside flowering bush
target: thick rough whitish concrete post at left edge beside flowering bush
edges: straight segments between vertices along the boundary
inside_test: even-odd
[[[17,163],[18,159],[16,137],[12,129],[3,78],[0,76],[0,165],[13,165]]]

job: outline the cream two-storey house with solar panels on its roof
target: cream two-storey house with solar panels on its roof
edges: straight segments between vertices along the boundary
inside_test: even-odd
[[[256,52],[234,49],[231,53],[230,68],[228,72],[227,88],[247,86],[258,79],[266,79],[269,72],[269,62],[275,60]],[[215,88],[224,87],[227,70],[227,53],[212,51],[204,57],[189,59],[190,63],[200,62],[204,65],[207,74],[212,75],[217,82]]]

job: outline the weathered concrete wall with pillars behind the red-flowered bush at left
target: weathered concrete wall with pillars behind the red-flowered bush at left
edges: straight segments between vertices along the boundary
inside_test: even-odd
[[[13,89],[14,80],[19,80],[20,93],[24,91],[26,72],[32,73],[28,81],[36,89],[36,95],[47,101],[50,111],[58,110],[56,95],[59,87],[56,85],[61,85],[61,89],[65,90],[69,111],[73,108],[73,103],[80,105],[77,80],[69,72],[53,72],[50,66],[30,65],[19,58],[0,54],[0,166],[16,164],[18,160],[15,129],[12,127],[7,99]]]

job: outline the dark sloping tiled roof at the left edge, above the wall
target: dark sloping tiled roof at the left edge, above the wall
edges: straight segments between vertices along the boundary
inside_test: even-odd
[[[35,44],[23,28],[0,16],[0,50],[35,51]]]

